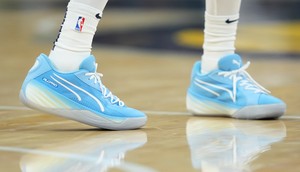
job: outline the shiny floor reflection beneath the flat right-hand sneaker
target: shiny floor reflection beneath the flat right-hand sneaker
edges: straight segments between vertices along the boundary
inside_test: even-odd
[[[196,118],[188,120],[192,165],[203,172],[250,172],[250,163],[286,137],[283,122]]]

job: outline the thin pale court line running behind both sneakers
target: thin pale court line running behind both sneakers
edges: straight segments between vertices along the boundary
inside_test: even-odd
[[[25,111],[32,111],[32,109],[27,108],[25,106],[0,106],[0,110],[25,110]],[[192,116],[189,112],[176,112],[176,111],[156,111],[156,110],[142,110],[146,114],[151,115],[189,115]],[[295,116],[284,115],[280,119],[296,119],[300,120],[300,114],[295,114]]]

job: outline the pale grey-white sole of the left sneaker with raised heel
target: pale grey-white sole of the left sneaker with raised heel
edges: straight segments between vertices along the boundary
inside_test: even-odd
[[[61,116],[64,118],[72,119],[87,125],[91,125],[97,128],[109,129],[109,130],[130,130],[141,128],[146,124],[147,117],[126,118],[122,120],[112,120],[100,115],[94,114],[88,110],[72,110],[72,109],[55,109],[45,108],[38,104],[35,104],[28,100],[24,93],[20,91],[21,102],[33,109],[37,109],[42,112]]]

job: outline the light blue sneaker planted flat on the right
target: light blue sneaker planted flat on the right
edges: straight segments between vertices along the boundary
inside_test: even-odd
[[[286,105],[254,81],[237,54],[223,57],[218,69],[201,74],[201,62],[194,64],[187,91],[188,111],[195,115],[230,116],[239,119],[278,118]]]

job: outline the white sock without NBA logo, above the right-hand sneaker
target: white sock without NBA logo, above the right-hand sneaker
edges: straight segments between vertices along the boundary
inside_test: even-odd
[[[206,0],[201,73],[218,68],[219,60],[235,51],[241,0]]]

